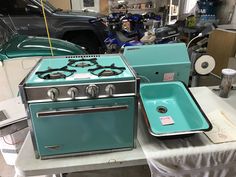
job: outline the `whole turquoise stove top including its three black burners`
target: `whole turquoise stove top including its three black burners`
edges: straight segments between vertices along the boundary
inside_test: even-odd
[[[27,86],[96,83],[134,79],[120,55],[43,58],[26,80]]]

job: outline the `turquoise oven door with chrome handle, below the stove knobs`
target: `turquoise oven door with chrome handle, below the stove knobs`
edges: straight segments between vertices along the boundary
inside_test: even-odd
[[[134,147],[134,97],[29,105],[41,158]]]

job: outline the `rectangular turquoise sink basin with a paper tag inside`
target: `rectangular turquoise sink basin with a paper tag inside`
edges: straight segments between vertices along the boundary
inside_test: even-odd
[[[182,82],[141,84],[142,112],[153,136],[209,131],[208,118]]]

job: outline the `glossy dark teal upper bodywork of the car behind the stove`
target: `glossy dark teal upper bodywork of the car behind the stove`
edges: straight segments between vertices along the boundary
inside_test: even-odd
[[[51,39],[51,42],[55,56],[86,54],[80,46],[67,41]],[[14,34],[7,43],[0,46],[1,60],[32,56],[51,56],[47,38]]]

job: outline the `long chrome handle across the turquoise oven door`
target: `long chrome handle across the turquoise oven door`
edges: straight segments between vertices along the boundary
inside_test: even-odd
[[[87,108],[78,108],[78,109],[57,109],[53,111],[44,111],[38,112],[36,115],[38,118],[46,117],[57,117],[57,116],[73,116],[78,114],[85,113],[94,113],[94,112],[107,112],[107,111],[119,111],[128,109],[128,105],[117,105],[117,106],[102,106],[102,107],[87,107]]]

